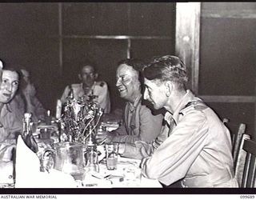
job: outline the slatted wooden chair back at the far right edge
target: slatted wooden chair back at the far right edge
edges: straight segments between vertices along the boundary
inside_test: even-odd
[[[242,187],[255,187],[256,181],[256,142],[245,140],[243,150],[247,152],[246,163],[242,175]]]

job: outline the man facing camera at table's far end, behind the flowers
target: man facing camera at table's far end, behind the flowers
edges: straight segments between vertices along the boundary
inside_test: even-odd
[[[91,62],[83,64],[78,78],[81,83],[66,86],[61,98],[62,104],[66,102],[70,90],[73,90],[75,99],[86,97],[87,100],[93,100],[99,107],[104,109],[104,113],[110,113],[108,86],[106,82],[96,82],[98,72],[95,65]]]

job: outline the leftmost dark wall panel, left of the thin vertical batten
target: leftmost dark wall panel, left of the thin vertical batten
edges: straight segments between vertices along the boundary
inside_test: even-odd
[[[0,59],[31,72],[38,97],[52,109],[58,75],[58,4],[0,3]]]

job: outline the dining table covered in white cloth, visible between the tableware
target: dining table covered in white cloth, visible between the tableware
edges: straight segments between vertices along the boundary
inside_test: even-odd
[[[116,129],[116,123],[106,122],[102,124],[106,129]],[[49,127],[39,126],[40,130]],[[53,127],[50,127],[54,130]],[[52,142],[57,138],[51,137]],[[44,141],[44,139],[42,140]],[[47,141],[47,139],[46,139]],[[103,150],[104,145],[97,146],[98,150]],[[162,188],[158,180],[149,179],[142,175],[139,167],[141,160],[134,158],[125,158],[118,155],[117,168],[108,170],[106,167],[106,158],[99,156],[98,171],[86,169],[82,178],[74,178],[71,174],[63,171],[51,169],[42,172],[40,165],[42,164],[38,158],[38,154],[31,151],[22,138],[18,139],[16,155],[16,180],[14,184],[2,184],[1,187],[14,188]]]

